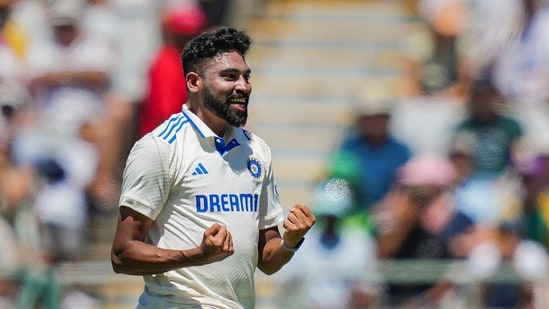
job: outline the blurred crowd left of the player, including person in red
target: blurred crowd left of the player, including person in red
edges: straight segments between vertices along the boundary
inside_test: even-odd
[[[0,0],[1,308],[92,308],[53,270],[85,257],[131,145],[186,100],[182,47],[229,5]]]

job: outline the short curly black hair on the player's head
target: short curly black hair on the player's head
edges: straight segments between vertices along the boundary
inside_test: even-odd
[[[181,53],[183,74],[197,72],[198,66],[222,53],[236,51],[245,56],[252,40],[244,31],[222,27],[192,39]]]

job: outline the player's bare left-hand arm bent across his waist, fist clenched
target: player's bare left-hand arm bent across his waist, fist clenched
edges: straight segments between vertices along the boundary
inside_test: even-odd
[[[116,273],[152,275],[182,267],[205,265],[233,254],[231,234],[219,224],[204,232],[202,244],[190,249],[163,249],[145,242],[153,220],[128,207],[120,207],[112,244],[111,263]]]

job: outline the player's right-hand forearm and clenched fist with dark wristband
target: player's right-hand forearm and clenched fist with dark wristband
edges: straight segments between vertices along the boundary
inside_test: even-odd
[[[284,220],[284,234],[277,226],[259,231],[258,268],[267,275],[274,274],[288,263],[315,224],[316,218],[305,205],[295,205]]]

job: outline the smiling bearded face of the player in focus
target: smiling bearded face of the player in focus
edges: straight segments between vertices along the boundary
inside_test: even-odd
[[[204,66],[203,75],[204,107],[230,125],[246,124],[252,86],[244,58],[237,52],[224,53]]]

